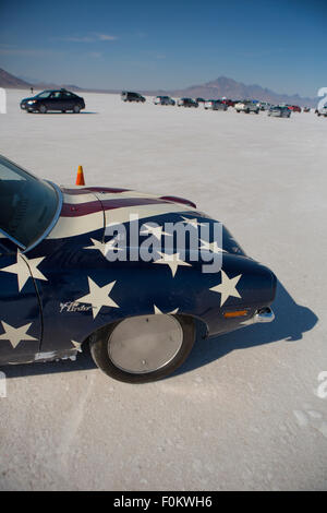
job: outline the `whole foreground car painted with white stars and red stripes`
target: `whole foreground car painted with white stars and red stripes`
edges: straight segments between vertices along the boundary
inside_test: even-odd
[[[133,217],[143,227],[136,243]],[[144,242],[174,224],[189,226],[204,263],[223,254],[218,269],[204,272],[178,240],[142,259]],[[104,372],[141,383],[185,360],[197,322],[216,336],[272,321],[275,275],[220,227],[218,244],[217,222],[189,200],[58,187],[0,156],[0,365],[74,359],[89,346]]]

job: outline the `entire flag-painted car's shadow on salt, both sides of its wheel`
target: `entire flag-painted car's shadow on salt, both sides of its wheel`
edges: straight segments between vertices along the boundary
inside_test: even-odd
[[[300,341],[303,333],[312,330],[318,321],[310,308],[302,307],[293,300],[280,282],[278,282],[272,309],[276,319],[269,324],[255,324],[207,339],[203,339],[203,333],[199,331],[197,341],[185,363],[166,379],[204,367],[234,349],[246,349],[279,341],[294,343]],[[58,362],[7,366],[2,370],[10,379],[78,370],[87,371],[96,368],[86,345],[83,353],[78,354],[76,361],[60,360]]]

